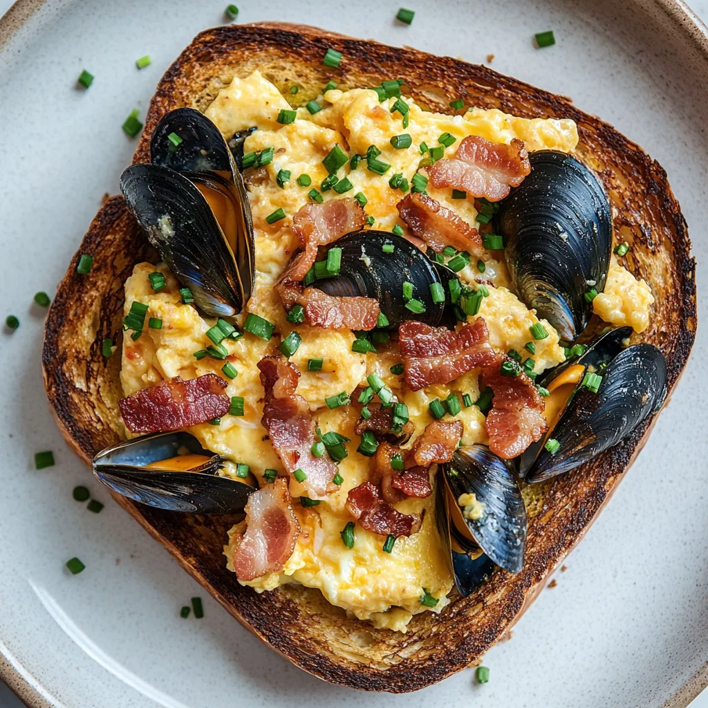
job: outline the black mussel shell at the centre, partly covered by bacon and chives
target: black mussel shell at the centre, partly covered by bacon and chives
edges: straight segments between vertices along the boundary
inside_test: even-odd
[[[393,253],[384,253],[384,244],[392,244]],[[335,297],[377,299],[392,328],[411,319],[431,326],[440,324],[445,303],[433,302],[430,285],[439,282],[447,293],[445,275],[441,275],[435,263],[403,236],[365,229],[347,234],[329,247],[342,249],[339,274],[334,278],[316,280],[315,287]],[[409,301],[403,295],[404,282],[413,283],[413,299],[423,303],[424,312],[406,307]]]

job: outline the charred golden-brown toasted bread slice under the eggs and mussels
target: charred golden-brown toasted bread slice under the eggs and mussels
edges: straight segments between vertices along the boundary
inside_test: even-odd
[[[328,47],[345,57],[339,69],[322,64]],[[649,282],[656,298],[641,339],[666,355],[673,388],[695,337],[695,263],[666,173],[636,144],[568,99],[486,67],[314,28],[267,23],[219,27],[195,38],[157,87],[135,161],[149,161],[150,135],[167,111],[184,105],[205,110],[234,75],[247,76],[253,69],[281,90],[293,83],[304,87],[297,94],[298,105],[314,98],[332,78],[348,89],[402,76],[404,91],[430,110],[445,112],[451,99],[464,98],[468,105],[501,108],[525,118],[575,120],[577,154],[605,184],[615,209],[615,230],[632,246],[629,268]],[[89,275],[76,273],[80,253],[94,257]],[[69,445],[87,464],[121,435],[120,358],[103,358],[101,343],[110,337],[120,346],[123,284],[133,265],[144,260],[156,262],[156,253],[122,198],[110,199],[84,236],[47,317],[42,355],[47,396]],[[351,619],[317,590],[289,585],[258,595],[241,587],[222,555],[232,519],[165,513],[122,497],[117,501],[239,622],[297,666],[344,686],[412,691],[478,660],[520,617],[610,498],[651,423],[646,421],[592,463],[536,488],[528,509],[523,571],[515,576],[496,571],[469,598],[452,598],[440,615],[413,617],[407,634]]]

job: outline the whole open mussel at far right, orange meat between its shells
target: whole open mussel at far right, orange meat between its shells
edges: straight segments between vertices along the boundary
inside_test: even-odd
[[[625,348],[631,333],[629,327],[610,330],[580,358],[541,380],[551,396],[561,399],[545,438],[520,457],[519,472],[527,483],[588,462],[661,407],[667,391],[666,359],[651,344]]]

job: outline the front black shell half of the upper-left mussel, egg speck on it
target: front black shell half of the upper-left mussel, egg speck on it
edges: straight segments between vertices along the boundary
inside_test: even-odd
[[[241,312],[247,295],[235,254],[198,188],[169,168],[131,165],[120,176],[120,189],[150,243],[190,288],[198,307],[214,317]]]

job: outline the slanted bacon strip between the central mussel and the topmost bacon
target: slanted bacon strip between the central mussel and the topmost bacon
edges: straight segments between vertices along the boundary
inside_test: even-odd
[[[433,251],[440,253],[445,246],[453,246],[474,256],[484,253],[477,229],[427,194],[408,194],[396,208],[413,234],[427,241]]]

